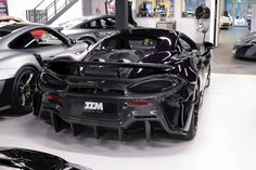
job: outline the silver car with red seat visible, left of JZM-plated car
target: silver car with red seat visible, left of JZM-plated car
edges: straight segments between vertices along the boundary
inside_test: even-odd
[[[31,24],[12,24],[0,28],[0,112],[12,108],[20,114],[33,110],[33,97],[40,64],[68,53],[79,54],[84,42],[67,39],[55,29]],[[38,57],[39,58],[39,57]]]

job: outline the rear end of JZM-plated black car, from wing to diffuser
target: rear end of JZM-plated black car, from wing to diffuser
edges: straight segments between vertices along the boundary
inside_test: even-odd
[[[164,64],[50,62],[38,79],[35,115],[74,135],[90,127],[97,139],[114,129],[120,141],[135,130],[144,130],[148,141],[157,130],[191,140],[200,82],[195,70],[190,79],[174,73]]]

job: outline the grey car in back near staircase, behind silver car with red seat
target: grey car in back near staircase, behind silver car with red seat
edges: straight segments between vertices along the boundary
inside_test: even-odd
[[[114,15],[91,15],[72,19],[60,24],[62,32],[76,40],[94,44],[100,39],[112,35],[115,31],[116,19]],[[135,27],[129,24],[129,27]]]

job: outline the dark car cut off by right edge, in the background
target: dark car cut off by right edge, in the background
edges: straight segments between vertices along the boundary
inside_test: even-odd
[[[236,58],[256,58],[256,32],[244,36],[234,42],[233,56]]]

